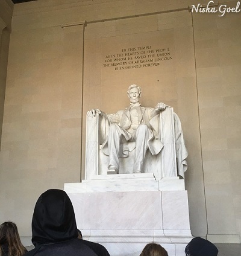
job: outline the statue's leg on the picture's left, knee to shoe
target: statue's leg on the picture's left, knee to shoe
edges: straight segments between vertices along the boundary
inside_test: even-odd
[[[117,124],[110,124],[108,130],[109,164],[108,174],[119,173],[119,151],[122,128]]]

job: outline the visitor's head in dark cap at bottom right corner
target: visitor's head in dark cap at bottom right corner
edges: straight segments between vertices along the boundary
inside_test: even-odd
[[[218,248],[201,237],[195,237],[185,248],[186,256],[217,256]]]

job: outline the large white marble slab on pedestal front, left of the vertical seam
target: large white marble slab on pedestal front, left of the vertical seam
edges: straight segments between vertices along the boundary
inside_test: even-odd
[[[74,205],[77,225],[81,229],[163,229],[159,191],[80,193],[69,196]],[[142,202],[145,202],[145,206]]]

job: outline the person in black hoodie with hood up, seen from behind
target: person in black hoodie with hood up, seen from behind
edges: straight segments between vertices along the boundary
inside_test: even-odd
[[[74,208],[63,190],[47,190],[39,197],[32,232],[35,248],[26,256],[100,256],[78,239]]]

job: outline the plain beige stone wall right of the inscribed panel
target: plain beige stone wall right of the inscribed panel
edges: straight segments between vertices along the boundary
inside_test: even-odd
[[[235,1],[227,4],[236,5]],[[205,19],[205,21],[204,21]],[[240,237],[240,13],[194,14],[208,238]],[[240,45],[240,44],[239,44]],[[234,178],[235,177],[235,178]],[[222,223],[222,225],[220,225]],[[218,238],[219,237],[219,238]]]

